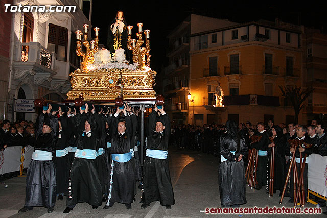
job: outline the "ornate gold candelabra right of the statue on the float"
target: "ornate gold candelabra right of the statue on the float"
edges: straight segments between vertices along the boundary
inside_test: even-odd
[[[136,36],[138,40],[132,39],[132,28],[133,26],[127,26],[128,29],[128,36],[127,36],[127,47],[129,50],[133,52],[133,62],[138,63],[139,68],[145,68],[150,67],[150,30],[145,30],[145,47],[141,47],[141,45],[144,43],[142,39],[142,26],[143,23],[137,23],[138,26],[138,33],[136,33]]]

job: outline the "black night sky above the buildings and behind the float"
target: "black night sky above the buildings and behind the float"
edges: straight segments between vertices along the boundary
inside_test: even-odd
[[[258,19],[273,21],[279,17],[281,21],[314,26],[324,32],[327,30],[326,11],[321,2],[285,0],[281,3],[267,3],[267,1],[93,1],[92,26],[100,28],[100,44],[107,44],[107,29],[114,19],[116,11],[122,10],[128,25],[133,26],[132,38],[136,38],[138,22],[143,23],[143,30],[149,29],[151,68],[161,71],[162,65],[167,65],[165,49],[168,47],[166,36],[189,14],[199,14],[215,18],[229,19],[235,22],[249,22]],[[249,2],[249,1],[247,1]],[[215,5],[213,5],[215,3]],[[88,11],[84,2],[84,12]],[[88,12],[86,12],[88,17]]]

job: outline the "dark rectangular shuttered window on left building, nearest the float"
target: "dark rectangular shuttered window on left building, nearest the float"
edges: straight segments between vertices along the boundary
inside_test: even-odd
[[[49,24],[48,50],[57,54],[57,60],[67,61],[68,30]]]

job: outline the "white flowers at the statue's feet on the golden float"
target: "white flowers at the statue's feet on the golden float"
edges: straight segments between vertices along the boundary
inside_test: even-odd
[[[107,49],[99,49],[98,52],[94,54],[94,63],[89,64],[87,69],[89,70],[100,70],[100,69],[128,69],[128,70],[136,70],[138,63],[136,64],[128,64],[126,61],[126,57],[124,54],[124,49],[116,50],[114,56],[111,57],[109,50]]]

